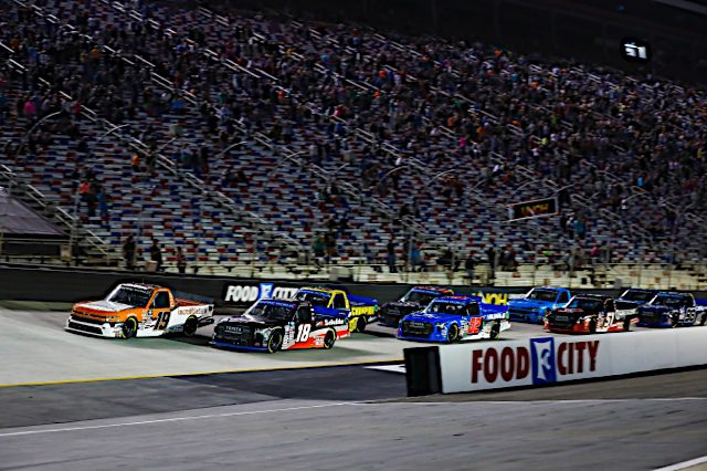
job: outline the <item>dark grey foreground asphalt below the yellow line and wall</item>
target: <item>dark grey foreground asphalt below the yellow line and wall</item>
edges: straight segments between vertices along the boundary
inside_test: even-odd
[[[571,400],[537,400],[538,390],[524,390],[508,399],[464,395],[464,401],[436,397],[428,402],[365,400],[398,394],[403,376],[355,370],[363,368],[318,368],[314,376],[297,378],[318,381],[308,389],[318,385],[319,398],[283,398],[278,393],[296,396],[296,387],[287,387],[295,377],[268,379],[257,377],[261,374],[200,377],[196,385],[194,378],[169,379],[173,384],[161,383],[168,378],[141,379],[143,385],[113,381],[93,393],[85,389],[92,385],[73,385],[78,389],[53,391],[66,404],[75,399],[68,409],[86,404],[110,410],[112,400],[91,400],[115,398],[119,390],[109,388],[120,385],[134,389],[135,411],[140,414],[0,428],[0,469],[648,470],[706,452],[707,370],[546,388],[555,391],[547,397],[564,397],[562,390],[573,388]],[[350,383],[341,384],[345,378]],[[181,389],[180,381],[187,383]],[[354,384],[361,397],[339,398]],[[593,391],[597,385],[623,394],[602,399]],[[49,386],[8,390],[36,394],[38,388]],[[202,388],[213,388],[223,405],[162,412],[148,412],[145,406],[159,402],[166,390],[196,400],[205,396]],[[651,388],[686,396],[646,397]],[[234,405],[225,405],[229,395]],[[3,404],[14,401],[0,397]],[[86,402],[86,397],[93,399]]]

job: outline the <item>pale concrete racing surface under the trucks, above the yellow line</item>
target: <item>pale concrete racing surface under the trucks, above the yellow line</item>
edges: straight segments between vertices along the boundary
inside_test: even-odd
[[[209,346],[213,326],[194,338],[96,338],[64,331],[66,312],[0,307],[0,386],[106,378],[173,376],[401,360],[403,348],[424,345],[394,338],[394,329],[370,326],[333,349],[275,355],[220,350]],[[548,335],[539,325],[514,324],[504,339]]]

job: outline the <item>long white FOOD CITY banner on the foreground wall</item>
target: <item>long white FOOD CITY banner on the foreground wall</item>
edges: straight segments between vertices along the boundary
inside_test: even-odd
[[[707,328],[439,346],[442,393],[541,386],[707,365]]]

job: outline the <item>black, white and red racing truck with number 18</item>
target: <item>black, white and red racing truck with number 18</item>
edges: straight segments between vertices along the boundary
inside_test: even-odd
[[[349,336],[348,315],[298,300],[260,300],[242,316],[215,325],[211,345],[221,348],[275,353],[326,348]]]

